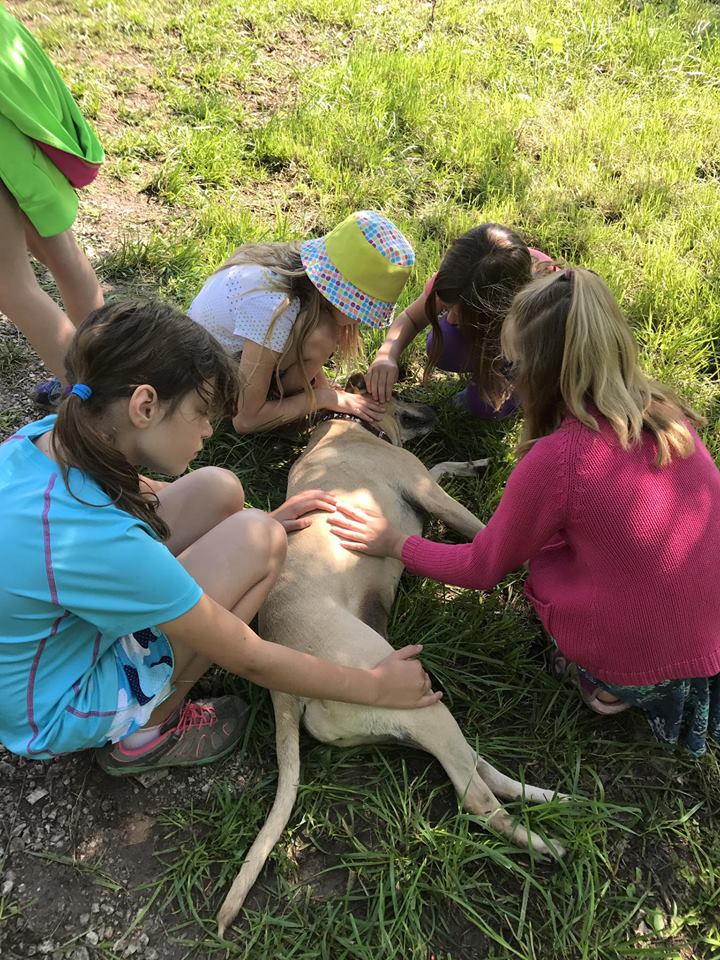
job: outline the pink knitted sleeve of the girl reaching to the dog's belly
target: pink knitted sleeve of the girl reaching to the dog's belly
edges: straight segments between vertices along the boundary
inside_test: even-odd
[[[568,438],[543,437],[510,474],[497,510],[472,543],[408,537],[402,561],[411,573],[458,587],[490,590],[532,559],[565,525]]]

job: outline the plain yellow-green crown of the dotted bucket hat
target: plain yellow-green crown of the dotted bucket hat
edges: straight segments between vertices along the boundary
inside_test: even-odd
[[[410,267],[390,263],[379,250],[363,236],[360,225],[352,214],[325,237],[328,259],[348,280],[363,293],[396,303],[405,281],[410,276]]]

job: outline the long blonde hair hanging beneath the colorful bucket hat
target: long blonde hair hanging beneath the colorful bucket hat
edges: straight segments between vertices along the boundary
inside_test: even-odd
[[[285,300],[277,307],[271,318],[270,327],[265,338],[268,348],[270,337],[272,336],[272,331],[278,318],[287,310],[293,300],[298,299],[300,301],[299,322],[296,321],[293,324],[292,333],[275,364],[275,383],[280,396],[282,396],[283,389],[280,374],[283,370],[284,362],[288,356],[294,352],[298,358],[300,370],[303,375],[303,390],[311,410],[314,410],[315,395],[312,384],[305,372],[302,359],[303,348],[308,337],[317,329],[321,314],[326,311],[329,306],[328,301],[305,272],[305,267],[300,258],[300,241],[293,243],[244,244],[242,247],[238,247],[215,272],[219,273],[221,270],[227,270],[228,267],[239,266],[240,264],[246,263],[267,267],[271,274],[271,286],[269,289],[277,290],[285,295]],[[361,351],[361,346],[362,341],[360,338],[359,324],[353,323],[340,327],[337,356],[342,365],[345,366],[353,363]]]

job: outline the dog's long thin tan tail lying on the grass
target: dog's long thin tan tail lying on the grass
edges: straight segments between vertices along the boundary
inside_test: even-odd
[[[297,797],[300,779],[300,701],[287,693],[273,693],[272,699],[278,762],[275,803],[220,907],[217,915],[219,936],[223,936],[245,902],[245,897],[290,819]]]

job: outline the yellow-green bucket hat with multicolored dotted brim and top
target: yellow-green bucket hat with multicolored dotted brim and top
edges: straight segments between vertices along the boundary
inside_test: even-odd
[[[325,237],[300,247],[305,271],[320,293],[353,320],[387,327],[415,263],[394,223],[375,210],[353,213]]]

